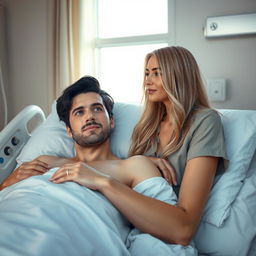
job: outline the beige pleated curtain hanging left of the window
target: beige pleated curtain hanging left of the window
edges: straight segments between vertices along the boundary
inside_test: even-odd
[[[54,0],[53,8],[53,97],[75,82],[79,74],[80,1]]]

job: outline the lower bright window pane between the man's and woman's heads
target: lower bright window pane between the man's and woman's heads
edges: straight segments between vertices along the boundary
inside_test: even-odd
[[[165,46],[167,43],[102,48],[99,66],[102,89],[115,102],[141,102],[145,56]]]

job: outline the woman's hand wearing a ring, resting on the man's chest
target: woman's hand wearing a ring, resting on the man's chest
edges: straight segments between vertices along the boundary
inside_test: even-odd
[[[53,183],[73,181],[87,188],[99,190],[102,182],[109,177],[83,162],[77,162],[60,167],[52,175],[50,181]]]

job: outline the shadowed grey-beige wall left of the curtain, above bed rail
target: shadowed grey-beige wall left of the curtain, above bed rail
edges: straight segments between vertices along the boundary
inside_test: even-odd
[[[9,120],[30,104],[49,112],[49,12],[46,0],[5,0]]]

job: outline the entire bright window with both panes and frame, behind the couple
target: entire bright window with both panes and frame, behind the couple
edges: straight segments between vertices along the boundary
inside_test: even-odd
[[[174,44],[174,0],[96,2],[94,75],[116,102],[140,102],[145,55]]]

